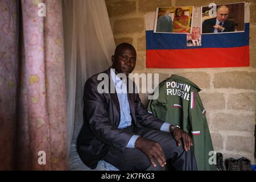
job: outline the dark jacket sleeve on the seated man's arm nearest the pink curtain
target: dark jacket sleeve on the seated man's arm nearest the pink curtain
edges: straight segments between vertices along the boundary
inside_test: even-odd
[[[99,140],[123,151],[133,134],[118,129],[109,121],[109,106],[104,93],[98,93],[97,86],[97,82],[92,78],[85,83],[85,122],[88,122],[90,130]]]

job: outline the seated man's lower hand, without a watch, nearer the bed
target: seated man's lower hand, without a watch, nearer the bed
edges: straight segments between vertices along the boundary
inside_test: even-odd
[[[135,142],[135,147],[148,156],[152,166],[156,167],[154,158],[160,166],[164,167],[166,164],[166,156],[164,155],[163,148],[158,142],[138,137]]]

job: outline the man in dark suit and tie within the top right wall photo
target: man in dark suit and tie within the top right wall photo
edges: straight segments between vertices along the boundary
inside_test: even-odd
[[[204,20],[202,25],[202,34],[233,32],[234,22],[228,20],[229,8],[225,5],[217,8],[216,18]]]

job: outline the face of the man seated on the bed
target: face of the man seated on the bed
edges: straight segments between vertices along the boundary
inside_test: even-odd
[[[129,47],[119,48],[117,55],[112,56],[112,67],[117,73],[124,73],[129,75],[135,68],[136,64],[136,51]]]

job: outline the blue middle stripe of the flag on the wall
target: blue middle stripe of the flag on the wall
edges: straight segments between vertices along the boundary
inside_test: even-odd
[[[228,48],[249,46],[250,23],[245,23],[245,32],[203,34],[202,46],[187,47],[186,34],[155,34],[146,31],[146,49],[195,49],[195,48]]]

